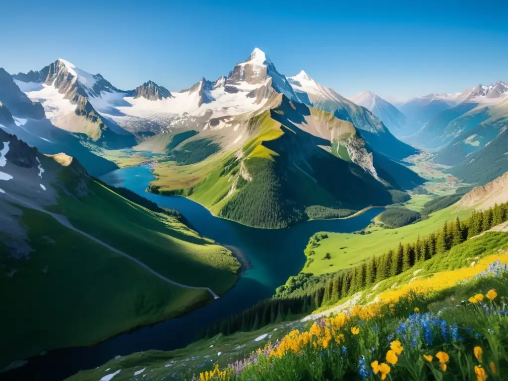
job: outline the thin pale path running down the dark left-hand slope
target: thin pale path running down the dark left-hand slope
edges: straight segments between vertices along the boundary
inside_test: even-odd
[[[148,267],[147,265],[145,265],[143,262],[141,262],[140,260],[130,256],[129,254],[126,254],[124,253],[123,251],[120,251],[116,248],[114,248],[113,246],[110,246],[108,245],[107,243],[101,241],[100,239],[97,239],[96,237],[93,237],[91,235],[89,235],[88,233],[85,233],[83,232],[82,230],[79,230],[79,229],[76,229],[74,226],[71,225],[71,223],[69,222],[69,220],[65,217],[65,216],[62,216],[60,214],[55,214],[55,213],[51,213],[51,212],[48,212],[47,210],[43,209],[43,208],[40,208],[39,206],[37,205],[33,205],[25,200],[22,200],[16,196],[13,196],[11,194],[8,194],[6,193],[5,194],[6,196],[9,196],[10,198],[12,198],[13,200],[15,200],[16,202],[22,204],[22,205],[25,205],[26,207],[30,208],[30,209],[35,209],[35,210],[38,210],[40,212],[43,212],[43,213],[46,213],[46,214],[49,214],[51,217],[53,217],[54,219],[56,219],[61,225],[65,226],[66,228],[69,228],[73,231],[75,231],[76,233],[79,233],[83,236],[85,236],[86,238],[94,241],[94,242],[97,242],[101,245],[103,245],[104,247],[110,249],[111,251],[114,251],[118,254],[120,254],[121,256],[125,257],[125,258],[128,258],[130,259],[131,261],[135,262],[136,264],[138,264],[139,266],[143,267],[144,269],[146,269],[147,271],[149,271],[150,273],[152,273],[153,275],[161,278],[162,280],[164,280],[165,282],[167,283],[170,283],[170,284],[173,284],[173,285],[176,285],[178,287],[182,287],[184,289],[194,289],[194,290],[206,290],[208,291],[212,296],[213,296],[213,299],[218,299],[219,296],[217,294],[215,294],[210,288],[208,287],[197,287],[197,286],[189,286],[189,285],[186,285],[186,284],[182,284],[182,283],[178,283],[178,282],[175,282],[174,280],[171,280],[169,278],[166,278],[164,275],[161,275],[159,274],[158,272],[156,272],[155,270],[153,270],[151,267]]]

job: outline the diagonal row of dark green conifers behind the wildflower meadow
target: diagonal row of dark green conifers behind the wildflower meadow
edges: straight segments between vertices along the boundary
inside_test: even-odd
[[[215,322],[199,338],[225,335],[237,331],[253,331],[263,326],[297,319],[322,306],[331,305],[353,295],[372,284],[401,274],[418,263],[450,250],[465,240],[508,220],[508,202],[496,204],[484,211],[472,211],[463,221],[457,216],[454,221],[445,221],[442,228],[416,241],[402,244],[380,256],[373,256],[362,264],[320,277],[298,274],[276,294],[223,321]],[[326,234],[311,237],[314,246]],[[289,284],[291,283],[291,284]]]

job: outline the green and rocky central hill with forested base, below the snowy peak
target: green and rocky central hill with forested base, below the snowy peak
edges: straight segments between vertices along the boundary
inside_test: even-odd
[[[408,197],[398,189],[423,183],[380,154],[373,158],[377,174],[369,173],[368,147],[350,122],[282,96],[271,105],[241,121],[250,139],[237,150],[213,154],[216,147],[207,139],[180,144],[171,151],[174,157],[156,164],[157,179],[149,190],[189,197],[248,226],[283,228],[316,216],[399,202]],[[176,152],[190,155],[195,150],[185,147],[191,145],[206,149],[180,161],[187,155]],[[178,165],[184,163],[188,165]],[[317,207],[326,212],[316,213]]]

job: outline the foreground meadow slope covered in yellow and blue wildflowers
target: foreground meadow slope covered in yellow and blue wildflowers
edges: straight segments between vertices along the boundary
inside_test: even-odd
[[[504,379],[508,371],[507,248],[508,234],[487,233],[422,263],[413,289],[406,290],[407,280],[399,289],[366,289],[364,296],[369,293],[369,300],[379,301],[354,307],[345,315],[340,312],[347,310],[351,297],[306,322],[218,334],[178,351],[136,353],[68,380],[92,381],[118,370],[117,381],[136,379],[135,372],[147,380],[373,381],[386,377],[472,381],[483,371],[488,379]],[[394,284],[394,280],[390,277],[385,282]],[[355,297],[358,305],[367,300]],[[332,311],[335,314],[322,319]],[[401,350],[395,349],[399,346]],[[474,350],[477,346],[481,355]],[[389,366],[383,365],[384,377],[381,363]]]

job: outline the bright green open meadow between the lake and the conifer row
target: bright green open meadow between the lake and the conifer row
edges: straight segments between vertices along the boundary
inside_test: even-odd
[[[316,260],[302,271],[320,275],[355,266],[373,255],[380,255],[395,248],[399,242],[412,242],[419,235],[433,233],[443,225],[444,221],[455,219],[457,215],[464,218],[469,214],[469,210],[455,212],[455,208],[451,206],[432,213],[428,219],[402,228],[379,229],[366,235],[327,233],[329,238],[320,241],[320,245],[314,248]],[[332,258],[326,261],[321,260],[326,253],[330,253]]]

